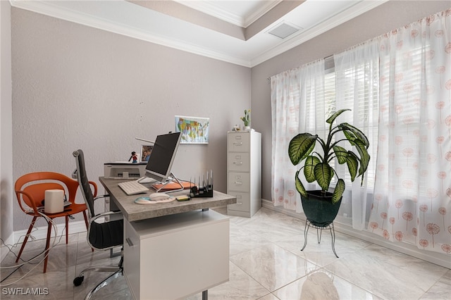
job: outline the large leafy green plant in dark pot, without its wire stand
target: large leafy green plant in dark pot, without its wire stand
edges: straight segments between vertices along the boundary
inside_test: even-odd
[[[330,166],[330,161],[337,159],[339,164],[346,163],[351,180],[362,175],[369,165],[368,154],[369,141],[364,133],[357,127],[348,123],[333,125],[335,118],[350,109],[336,111],[326,120],[329,124],[327,140],[324,141],[318,135],[304,132],[293,137],[288,146],[288,156],[293,165],[304,161],[302,168],[297,170],[295,185],[297,192],[301,195],[304,213],[313,225],[326,227],[335,219],[340,208],[342,194],[345,192],[345,181],[338,177],[337,172]],[[337,136],[342,132],[342,137]],[[319,142],[321,151],[314,151],[316,142]],[[357,149],[357,154],[339,146],[342,142],[349,142]],[[299,180],[299,172],[304,169],[307,182],[317,182],[321,190],[307,191]],[[330,182],[337,176],[337,184],[333,192],[328,192]]]

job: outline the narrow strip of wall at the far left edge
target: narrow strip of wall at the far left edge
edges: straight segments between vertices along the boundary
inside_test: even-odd
[[[11,6],[0,1],[0,237],[13,242],[13,135],[11,87]],[[10,240],[11,239],[11,240]],[[1,245],[3,246],[3,245]],[[1,250],[1,259],[8,252]]]

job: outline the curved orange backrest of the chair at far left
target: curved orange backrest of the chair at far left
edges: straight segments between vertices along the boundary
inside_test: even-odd
[[[25,212],[28,208],[23,204],[30,208],[42,206],[46,189],[63,189],[68,200],[74,203],[78,182],[60,173],[35,172],[20,176],[14,185],[19,206]]]

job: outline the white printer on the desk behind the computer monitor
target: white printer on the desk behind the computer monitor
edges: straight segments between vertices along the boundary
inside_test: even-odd
[[[147,161],[131,163],[128,161],[116,161],[104,163],[104,177],[107,179],[138,179],[146,173]]]

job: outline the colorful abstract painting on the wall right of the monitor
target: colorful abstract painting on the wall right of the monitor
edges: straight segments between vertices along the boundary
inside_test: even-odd
[[[183,144],[208,144],[209,125],[209,118],[175,115],[175,132],[182,132],[180,143]]]

